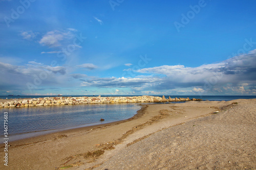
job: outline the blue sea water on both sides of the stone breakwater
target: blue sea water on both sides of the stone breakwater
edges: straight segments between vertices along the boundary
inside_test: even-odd
[[[55,95],[56,96],[56,95]],[[62,95],[69,96],[69,95]],[[83,96],[83,95],[72,95]],[[94,96],[94,95],[90,95]],[[102,95],[103,97],[104,95]],[[130,96],[130,95],[129,95]],[[236,99],[254,99],[256,95],[165,95],[165,98],[189,98],[208,101],[230,101]],[[9,95],[0,96],[0,99],[44,98],[46,95]],[[51,95],[52,97],[52,95]],[[162,97],[162,96],[160,96]],[[171,102],[172,103],[172,102]],[[133,117],[141,109],[138,103],[122,104],[84,104],[61,105],[48,107],[2,108],[8,113],[9,141],[58,132],[68,129],[88,127],[105,123],[116,122]],[[104,121],[100,121],[103,118]],[[4,122],[2,122],[4,124]],[[0,141],[4,139],[0,134]]]

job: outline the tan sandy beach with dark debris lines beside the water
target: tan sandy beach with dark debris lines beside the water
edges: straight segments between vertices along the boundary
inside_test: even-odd
[[[255,169],[255,104],[145,105],[121,122],[13,141],[0,169]]]

